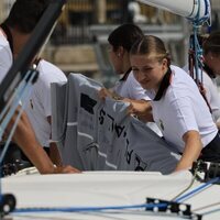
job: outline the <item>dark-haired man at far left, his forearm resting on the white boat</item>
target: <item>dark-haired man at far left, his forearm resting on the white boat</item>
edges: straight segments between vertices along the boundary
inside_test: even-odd
[[[13,59],[29,41],[35,25],[48,6],[50,0],[16,0],[7,20],[0,25],[0,81],[7,75]],[[20,107],[8,125],[9,132],[15,121]],[[42,174],[74,173],[70,166],[54,167],[47,154],[36,141],[26,114],[23,112],[13,141],[22,148]]]

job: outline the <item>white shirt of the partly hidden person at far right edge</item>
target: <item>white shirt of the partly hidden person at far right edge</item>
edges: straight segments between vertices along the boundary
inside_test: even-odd
[[[183,69],[188,73],[188,65],[183,67]],[[202,84],[206,90],[207,101],[211,108],[213,120],[218,121],[218,119],[220,119],[220,96],[215,79],[211,79],[205,70],[202,72]]]

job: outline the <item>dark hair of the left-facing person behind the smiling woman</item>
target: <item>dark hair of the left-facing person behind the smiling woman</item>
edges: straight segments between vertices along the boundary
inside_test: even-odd
[[[125,23],[110,33],[108,42],[113,46],[114,51],[117,51],[119,46],[122,46],[128,52],[130,52],[133,43],[143,36],[144,33],[139,26],[135,24]]]

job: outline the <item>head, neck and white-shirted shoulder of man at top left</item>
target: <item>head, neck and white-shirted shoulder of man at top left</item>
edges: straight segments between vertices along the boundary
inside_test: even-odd
[[[0,25],[2,54],[0,81],[4,78],[13,59],[29,41],[35,25],[48,6],[50,0],[16,0],[9,16]]]

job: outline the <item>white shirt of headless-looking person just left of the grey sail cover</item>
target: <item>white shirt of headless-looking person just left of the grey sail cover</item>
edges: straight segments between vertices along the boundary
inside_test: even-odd
[[[41,59],[37,66],[40,73],[25,107],[25,112],[42,146],[50,146],[51,125],[47,117],[51,109],[51,84],[67,81],[65,74],[55,65]]]

